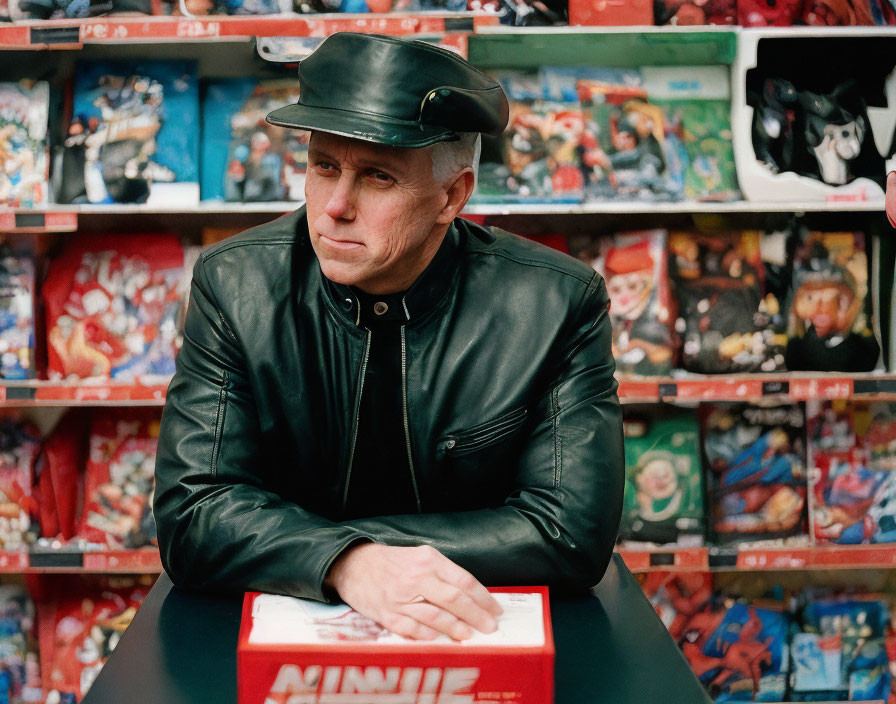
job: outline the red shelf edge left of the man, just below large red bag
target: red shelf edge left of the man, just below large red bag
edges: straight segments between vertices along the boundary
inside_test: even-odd
[[[158,384],[6,382],[0,386],[0,405],[163,406],[167,389],[167,381]]]

